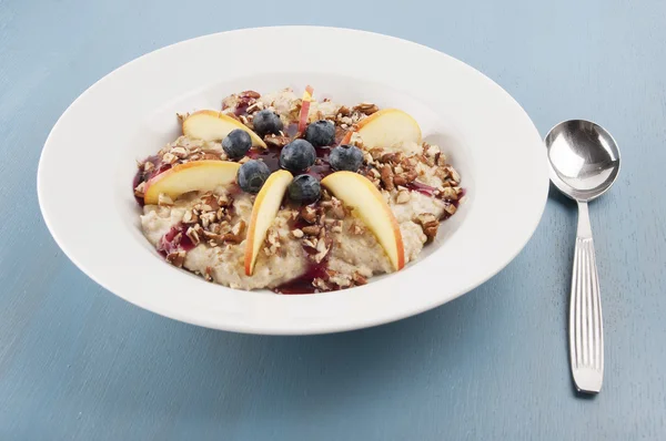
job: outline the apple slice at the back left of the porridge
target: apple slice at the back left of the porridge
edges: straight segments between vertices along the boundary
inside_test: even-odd
[[[204,141],[222,141],[234,129],[248,132],[253,146],[266,148],[266,143],[256,133],[222,112],[203,110],[192,113],[183,121],[184,135]]]

